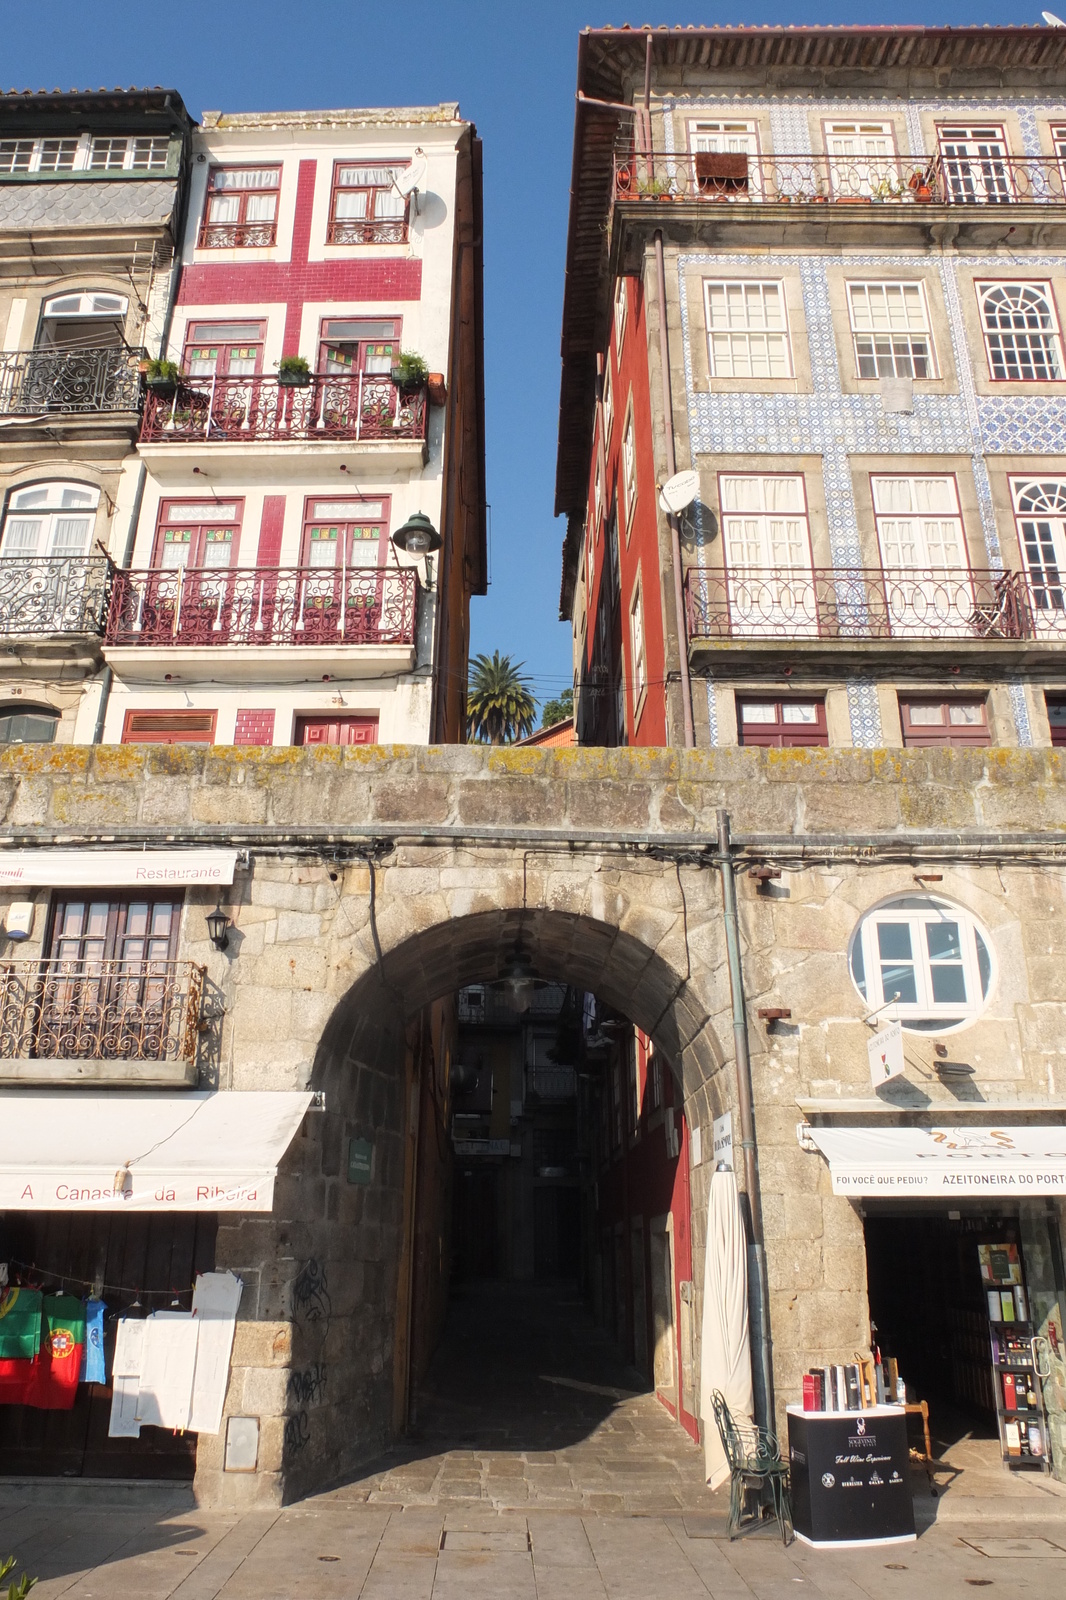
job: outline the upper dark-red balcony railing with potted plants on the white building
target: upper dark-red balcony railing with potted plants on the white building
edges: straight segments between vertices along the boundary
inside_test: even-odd
[[[319,374],[303,387],[277,378],[205,378],[171,395],[150,390],[141,440],[426,438],[426,390],[403,394],[391,378]]]

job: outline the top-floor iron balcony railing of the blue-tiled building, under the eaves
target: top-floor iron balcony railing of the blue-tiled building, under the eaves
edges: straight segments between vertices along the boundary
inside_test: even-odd
[[[637,152],[615,157],[615,200],[1061,205],[1066,158]]]

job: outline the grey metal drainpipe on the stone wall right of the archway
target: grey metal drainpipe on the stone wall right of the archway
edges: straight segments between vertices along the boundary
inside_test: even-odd
[[[744,978],[739,958],[739,925],[736,918],[736,874],[730,845],[728,811],[715,813],[719,824],[719,870],[722,874],[722,918],[725,922],[725,950],[730,966],[730,997],[733,1002],[733,1054],[736,1061],[736,1102],[739,1110],[744,1152],[744,1198],[751,1229],[749,1256],[749,1314],[752,1344],[755,1347],[755,1421],[773,1429],[773,1371],[770,1365],[770,1301],[767,1294],[767,1250],[762,1235],[762,1195],[759,1192],[759,1152],[755,1147],[755,1117],[751,1093],[751,1056],[747,1051],[747,1013],[744,1010]]]

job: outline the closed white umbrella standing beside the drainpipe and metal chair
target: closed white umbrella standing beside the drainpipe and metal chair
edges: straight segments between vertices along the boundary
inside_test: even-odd
[[[706,1478],[712,1490],[730,1475],[711,1395],[720,1389],[738,1427],[752,1426],[751,1346],[747,1342],[747,1238],[730,1168],[711,1178],[703,1269],[703,1360],[699,1414]]]

